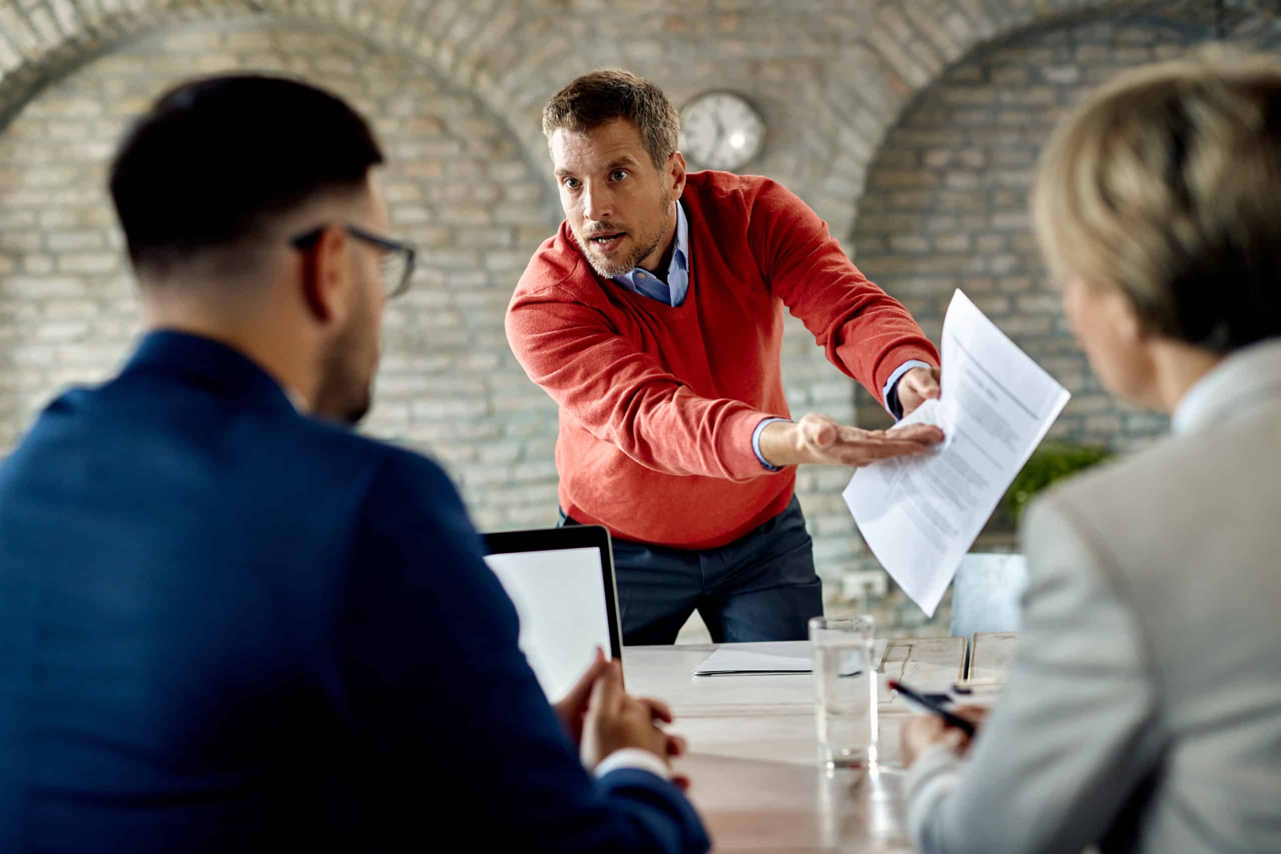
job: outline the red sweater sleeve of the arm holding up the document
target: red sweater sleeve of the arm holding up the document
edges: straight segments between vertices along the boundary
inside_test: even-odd
[[[881,391],[899,365],[939,365],[907,309],[858,271],[808,205],[772,181],[749,204],[749,245],[765,279],[833,365],[883,405]]]

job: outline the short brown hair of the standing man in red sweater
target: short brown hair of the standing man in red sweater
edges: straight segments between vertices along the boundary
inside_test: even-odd
[[[676,150],[680,114],[661,88],[632,72],[608,68],[575,79],[543,108],[543,133],[551,142],[556,131],[589,133],[615,119],[637,125],[653,165],[662,169]]]

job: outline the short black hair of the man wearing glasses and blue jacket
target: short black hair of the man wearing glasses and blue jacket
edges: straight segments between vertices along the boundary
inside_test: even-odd
[[[110,191],[135,266],[251,237],[324,192],[355,191],[383,161],[342,99],[260,74],[183,83],[126,134]]]

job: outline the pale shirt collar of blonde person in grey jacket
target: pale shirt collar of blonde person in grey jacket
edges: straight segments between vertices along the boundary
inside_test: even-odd
[[[1281,402],[1281,339],[1230,353],[1193,383],[1175,407],[1171,429],[1190,433],[1214,421]]]

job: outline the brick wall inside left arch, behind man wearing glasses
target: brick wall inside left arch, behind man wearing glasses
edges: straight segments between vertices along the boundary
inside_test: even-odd
[[[479,525],[547,524],[553,411],[509,352],[502,312],[559,219],[552,191],[506,124],[429,67],[297,24],[232,22],[123,45],[44,90],[0,134],[0,442],[131,350],[141,320],[106,164],[167,86],[229,69],[339,92],[384,143],[393,230],[424,251],[412,288],[387,310],[368,430],[436,453]]]

